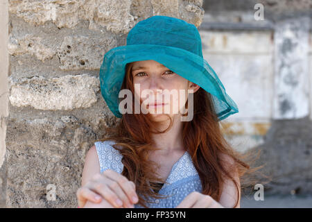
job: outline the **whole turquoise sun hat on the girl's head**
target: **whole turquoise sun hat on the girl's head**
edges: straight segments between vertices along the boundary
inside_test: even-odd
[[[219,121],[239,112],[214,69],[202,57],[202,41],[196,26],[175,17],[155,15],[138,22],[128,33],[127,44],[110,49],[103,58],[101,94],[116,117],[122,117],[119,92],[125,65],[141,60],[155,60],[205,89],[211,94]]]

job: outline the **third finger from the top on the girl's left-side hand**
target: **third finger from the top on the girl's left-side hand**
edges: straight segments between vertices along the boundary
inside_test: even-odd
[[[119,199],[119,197],[110,189],[110,187],[105,184],[105,182],[93,182],[89,184],[89,188],[96,191],[100,194],[105,200],[107,200],[110,204],[119,208],[123,205],[123,202]]]

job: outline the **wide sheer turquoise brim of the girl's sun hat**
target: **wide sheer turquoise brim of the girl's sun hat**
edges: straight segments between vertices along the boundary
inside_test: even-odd
[[[119,112],[119,91],[125,76],[125,65],[141,60],[155,60],[209,92],[219,121],[239,112],[214,69],[204,58],[172,46],[133,44],[107,51],[100,69],[101,94],[116,117],[122,117]]]

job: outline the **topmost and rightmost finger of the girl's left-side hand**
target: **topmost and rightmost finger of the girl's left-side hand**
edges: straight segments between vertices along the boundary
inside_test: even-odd
[[[128,196],[129,200],[133,204],[137,203],[139,198],[137,196],[137,193],[135,192],[135,188],[125,176],[112,170],[104,171],[103,174],[107,176],[107,178],[110,178],[118,182],[119,185],[121,186],[121,189],[123,189],[124,193]]]

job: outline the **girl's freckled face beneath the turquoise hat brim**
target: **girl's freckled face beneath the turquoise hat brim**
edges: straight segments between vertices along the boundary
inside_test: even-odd
[[[196,92],[199,88],[155,60],[133,62],[132,78],[135,94],[143,101],[141,110],[157,121],[164,121],[164,114],[180,114],[190,93],[188,89]]]

